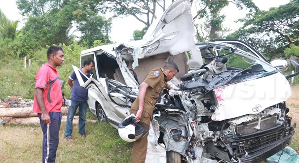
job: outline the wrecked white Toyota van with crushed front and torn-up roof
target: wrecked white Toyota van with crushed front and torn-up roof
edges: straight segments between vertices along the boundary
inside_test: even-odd
[[[259,163],[288,146],[288,78],[299,72],[284,76],[285,61],[271,65],[239,40],[195,43],[190,13],[177,0],[143,40],[82,51],[82,62],[95,60],[95,76],[80,81],[91,112],[117,129],[150,69],[174,61],[180,72],[156,101],[146,163]]]

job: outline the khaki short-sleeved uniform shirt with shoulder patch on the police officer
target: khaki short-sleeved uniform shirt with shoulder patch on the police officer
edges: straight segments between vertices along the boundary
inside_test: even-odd
[[[150,118],[152,118],[152,111],[157,101],[157,98],[167,85],[165,77],[166,74],[162,68],[154,68],[149,72],[148,76],[144,80],[144,82],[146,82],[150,87],[148,87],[146,91],[143,111],[149,113]],[[132,103],[131,109],[138,110],[138,101],[139,97],[137,97],[135,101]]]

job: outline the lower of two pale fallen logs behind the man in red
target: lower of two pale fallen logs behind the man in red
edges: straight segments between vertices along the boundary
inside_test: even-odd
[[[62,116],[61,122],[67,122],[67,116]],[[78,125],[79,116],[74,116],[73,124]],[[96,123],[97,120],[86,120],[86,123]],[[39,126],[38,117],[27,117],[27,118],[15,118],[15,117],[4,117],[3,125],[37,125]]]

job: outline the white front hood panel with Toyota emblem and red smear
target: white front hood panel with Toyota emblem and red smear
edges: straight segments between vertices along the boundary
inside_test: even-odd
[[[292,95],[288,80],[279,72],[215,88],[214,92],[218,101],[218,107],[212,115],[214,121],[258,114]]]

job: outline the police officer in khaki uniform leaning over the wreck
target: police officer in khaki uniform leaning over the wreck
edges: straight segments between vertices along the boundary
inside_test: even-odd
[[[178,72],[178,65],[174,62],[168,62],[163,68],[157,67],[149,72],[144,82],[139,86],[138,97],[131,105],[130,114],[136,115],[136,122],[144,122],[150,126],[152,111],[158,96],[164,88],[170,90],[167,81],[173,79]],[[133,142],[132,163],[144,163],[147,149],[148,134]]]

